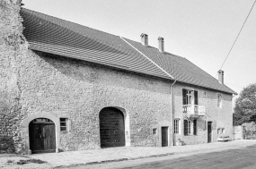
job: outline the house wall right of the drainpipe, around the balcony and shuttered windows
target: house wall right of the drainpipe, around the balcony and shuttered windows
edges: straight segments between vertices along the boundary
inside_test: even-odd
[[[182,104],[182,89],[198,90],[199,106],[205,106],[207,113],[198,119],[197,135],[184,136],[184,119]],[[172,89],[173,93],[173,118],[180,119],[180,133],[174,134],[174,142],[181,139],[183,145],[207,143],[207,122],[212,122],[212,141],[216,142],[218,128],[225,129],[225,135],[232,138],[233,116],[232,116],[232,94],[226,94],[212,89],[198,88],[184,83],[176,83]],[[221,94],[221,107],[217,106],[217,94]]]

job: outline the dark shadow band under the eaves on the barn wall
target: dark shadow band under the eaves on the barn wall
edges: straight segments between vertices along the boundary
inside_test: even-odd
[[[40,56],[40,59],[43,62],[40,63],[40,68],[43,72],[49,73],[49,76],[53,76],[54,74],[52,72],[57,71],[71,80],[81,82],[106,84],[109,86],[118,85],[119,87],[128,89],[154,91],[168,95],[170,92],[169,86],[159,88],[159,85],[162,83],[166,84],[165,80],[154,78],[149,75],[128,72],[108,65],[90,63],[61,55],[53,55],[39,51],[33,51],[33,53]],[[54,78],[54,80],[57,79]],[[51,81],[53,82],[53,80]]]

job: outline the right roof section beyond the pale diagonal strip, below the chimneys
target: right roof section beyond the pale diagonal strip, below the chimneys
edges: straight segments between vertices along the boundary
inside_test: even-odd
[[[170,73],[177,81],[209,89],[225,91],[227,93],[235,93],[232,89],[229,89],[224,84],[220,84],[218,80],[184,57],[172,55],[167,52],[161,53],[157,48],[152,46],[145,47],[141,43],[129,39],[126,40],[153,60],[154,63],[160,65],[163,70]]]

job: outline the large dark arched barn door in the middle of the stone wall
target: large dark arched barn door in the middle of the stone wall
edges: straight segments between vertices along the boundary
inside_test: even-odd
[[[103,108],[100,112],[101,147],[125,146],[124,115],[117,108]]]

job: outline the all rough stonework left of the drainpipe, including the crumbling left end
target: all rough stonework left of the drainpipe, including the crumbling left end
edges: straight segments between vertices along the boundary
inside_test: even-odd
[[[1,153],[28,153],[29,123],[49,117],[57,151],[101,148],[104,107],[124,114],[126,146],[161,146],[152,129],[169,126],[172,133],[170,81],[29,50],[20,5],[1,0]],[[68,118],[69,131],[60,131],[61,117]]]

